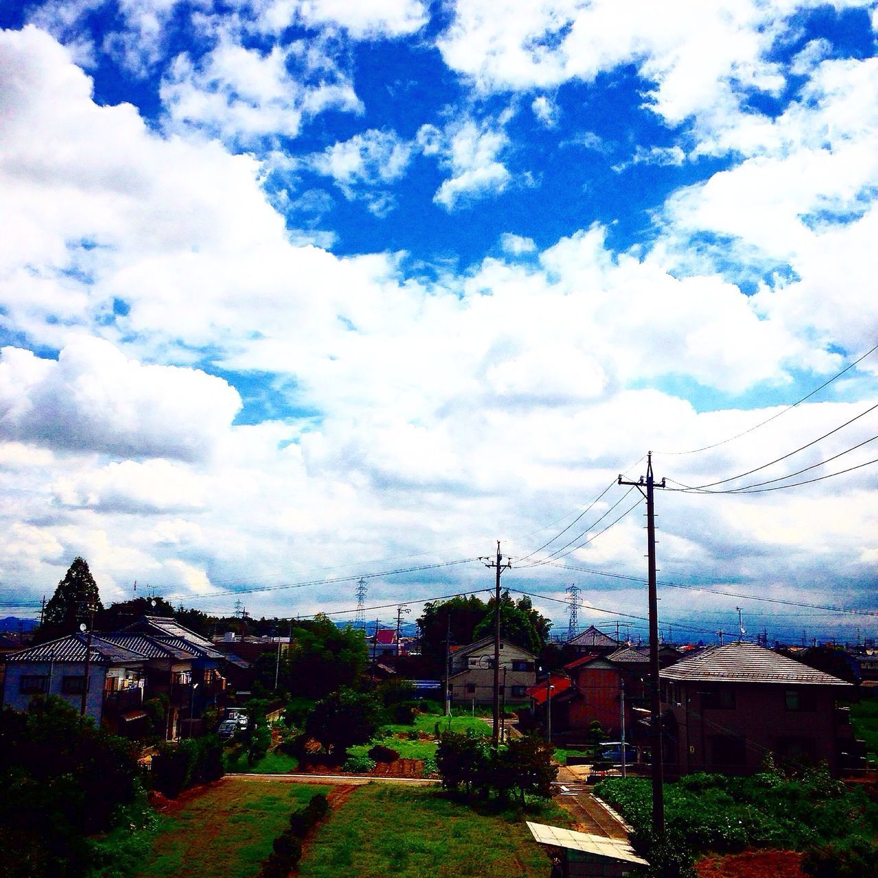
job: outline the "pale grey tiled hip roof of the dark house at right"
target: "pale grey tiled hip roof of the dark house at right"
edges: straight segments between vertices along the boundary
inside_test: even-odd
[[[732,643],[711,646],[682,659],[659,673],[662,680],[723,680],[746,683],[796,683],[850,686],[831,674],[817,671],[763,646]]]

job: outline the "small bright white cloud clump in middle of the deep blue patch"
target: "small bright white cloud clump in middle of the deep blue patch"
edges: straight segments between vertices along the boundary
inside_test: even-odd
[[[417,137],[424,155],[437,155],[450,177],[436,191],[433,200],[446,210],[468,205],[474,199],[499,195],[511,180],[506,166],[498,161],[508,138],[490,120],[452,122],[440,130],[421,127]]]

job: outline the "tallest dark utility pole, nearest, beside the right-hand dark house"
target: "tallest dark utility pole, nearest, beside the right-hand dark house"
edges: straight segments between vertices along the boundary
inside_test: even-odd
[[[620,485],[633,485],[646,498],[646,558],[649,572],[650,617],[650,732],[652,743],[652,831],[665,833],[664,765],[662,762],[661,702],[659,693],[659,597],[656,589],[656,525],[653,491],[656,487],[652,475],[652,452],[646,456],[646,479],[625,481],[619,476]],[[665,487],[665,479],[659,487]],[[644,492],[644,488],[646,489]]]

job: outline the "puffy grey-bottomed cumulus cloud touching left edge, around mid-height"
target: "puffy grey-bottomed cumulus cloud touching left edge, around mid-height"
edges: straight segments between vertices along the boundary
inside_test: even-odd
[[[221,378],[144,365],[110,343],[71,339],[57,362],[2,349],[0,435],[56,450],[197,460],[241,407]]]

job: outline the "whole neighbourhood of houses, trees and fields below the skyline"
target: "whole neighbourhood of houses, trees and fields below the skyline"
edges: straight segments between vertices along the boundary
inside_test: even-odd
[[[663,642],[655,680],[508,593],[401,615],[104,608],[76,558],[0,637],[0,874],[878,874],[874,641]]]

